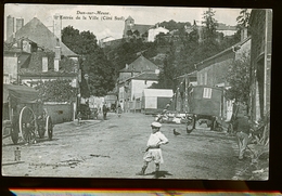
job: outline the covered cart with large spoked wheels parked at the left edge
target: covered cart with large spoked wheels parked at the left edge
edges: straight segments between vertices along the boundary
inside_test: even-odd
[[[25,86],[3,84],[2,139],[11,136],[14,144],[42,139],[52,140],[52,119],[38,99],[38,91]]]

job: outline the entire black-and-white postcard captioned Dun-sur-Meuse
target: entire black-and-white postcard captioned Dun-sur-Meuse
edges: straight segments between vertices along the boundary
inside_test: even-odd
[[[271,9],[3,15],[3,177],[269,180]]]

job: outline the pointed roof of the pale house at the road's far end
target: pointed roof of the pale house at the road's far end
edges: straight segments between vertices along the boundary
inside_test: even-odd
[[[136,61],[133,61],[131,64],[128,65],[128,68],[123,68],[119,70],[120,73],[127,73],[127,71],[136,71],[141,73],[144,70],[152,70],[155,71],[158,67],[153,64],[151,61],[145,58],[143,55],[140,55]]]

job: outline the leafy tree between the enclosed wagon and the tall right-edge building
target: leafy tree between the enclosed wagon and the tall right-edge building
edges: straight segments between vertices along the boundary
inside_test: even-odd
[[[230,89],[226,91],[228,100],[234,100],[240,103],[248,103],[249,97],[249,52],[242,54],[240,60],[234,61],[227,74],[227,81]]]

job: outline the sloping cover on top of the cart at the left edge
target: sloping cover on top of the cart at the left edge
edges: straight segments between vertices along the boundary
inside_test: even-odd
[[[35,103],[38,99],[38,91],[26,86],[3,83],[3,103],[8,102],[8,96],[15,99],[17,103]]]

